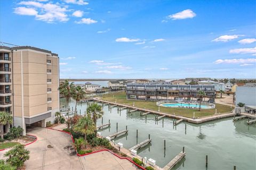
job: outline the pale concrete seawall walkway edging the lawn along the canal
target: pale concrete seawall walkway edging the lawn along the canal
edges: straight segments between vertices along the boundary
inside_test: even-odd
[[[94,101],[99,101],[101,103],[108,103],[110,105],[117,105],[119,107],[127,107],[127,108],[134,109],[134,110],[137,109],[138,111],[141,111],[141,112],[150,112],[151,114],[157,114],[157,115],[171,117],[171,118],[175,118],[175,119],[183,119],[183,120],[186,120],[187,122],[195,123],[195,124],[208,122],[208,121],[213,121],[213,120],[217,120],[219,118],[232,117],[232,116],[236,115],[236,113],[233,111],[233,112],[230,112],[230,113],[215,114],[215,115],[212,115],[212,116],[206,116],[206,117],[201,117],[201,118],[190,118],[190,117],[178,116],[178,115],[164,113],[164,112],[152,111],[152,110],[149,110],[149,109],[144,109],[144,108],[139,108],[139,107],[134,107],[134,106],[129,106],[129,105],[118,104],[118,103],[114,103],[114,102],[111,102],[111,101],[100,100],[100,99],[97,99],[97,98],[93,98],[93,100]]]

